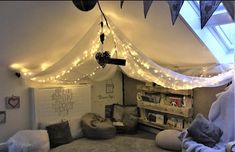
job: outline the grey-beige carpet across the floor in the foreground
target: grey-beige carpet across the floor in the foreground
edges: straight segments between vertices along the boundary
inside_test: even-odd
[[[91,140],[81,138],[59,146],[50,152],[170,152],[158,148],[155,140],[117,135],[112,139]]]

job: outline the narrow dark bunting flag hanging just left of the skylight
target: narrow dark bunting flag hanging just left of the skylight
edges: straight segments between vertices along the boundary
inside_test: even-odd
[[[171,10],[171,21],[175,24],[177,17],[179,16],[180,9],[184,3],[184,0],[172,1],[168,0],[168,4]]]

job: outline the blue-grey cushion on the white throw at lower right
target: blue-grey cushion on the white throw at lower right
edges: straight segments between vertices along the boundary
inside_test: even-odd
[[[187,130],[194,141],[208,147],[214,147],[223,134],[219,127],[207,120],[202,114],[196,116]]]

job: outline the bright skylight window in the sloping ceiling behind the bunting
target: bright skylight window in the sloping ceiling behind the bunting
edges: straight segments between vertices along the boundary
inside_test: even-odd
[[[203,29],[199,1],[185,1],[180,15],[219,63],[234,63],[235,23],[222,3]]]

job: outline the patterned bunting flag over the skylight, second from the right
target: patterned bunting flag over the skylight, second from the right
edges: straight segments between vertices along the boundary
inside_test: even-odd
[[[205,1],[200,0],[201,28],[203,28],[217,9],[221,0]]]

